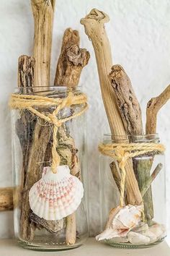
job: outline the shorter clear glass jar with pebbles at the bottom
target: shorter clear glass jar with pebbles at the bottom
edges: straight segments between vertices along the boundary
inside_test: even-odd
[[[140,146],[143,142],[146,146],[147,143],[158,145],[158,135],[104,135],[102,145],[138,143]],[[109,155],[112,153],[114,152],[109,152]],[[101,234],[97,236],[97,240],[120,248],[142,248],[158,244],[166,237],[164,152],[151,150],[149,153],[126,159],[124,205],[121,208],[119,205],[122,174],[119,163],[114,157],[100,154]],[[128,173],[130,164],[133,174]],[[136,183],[133,182],[134,186],[130,187],[128,181],[132,179],[135,179]],[[137,202],[137,192],[142,198],[141,202]]]

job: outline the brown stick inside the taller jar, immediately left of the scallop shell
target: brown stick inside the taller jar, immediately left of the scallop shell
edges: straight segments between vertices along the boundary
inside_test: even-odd
[[[40,121],[40,120],[39,120]],[[24,190],[22,191],[22,214],[20,218],[20,232],[22,239],[32,241],[34,237],[35,223],[30,219],[30,188],[42,176],[42,168],[44,166],[45,152],[50,141],[51,129],[45,127],[45,121],[42,125],[36,122],[30,147],[29,161],[27,163],[27,173],[25,177]],[[40,164],[38,164],[40,162]]]

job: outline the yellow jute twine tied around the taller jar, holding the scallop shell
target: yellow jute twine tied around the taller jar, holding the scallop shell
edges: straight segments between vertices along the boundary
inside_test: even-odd
[[[80,105],[81,109],[79,112],[76,112],[74,114],[71,114],[71,116],[68,116],[66,118],[58,119],[58,113],[61,111],[61,109],[70,107],[73,105]],[[39,95],[20,95],[20,94],[12,94],[9,106],[12,109],[19,109],[19,110],[28,110],[32,114],[35,114],[36,116],[40,117],[41,119],[44,119],[49,124],[53,125],[53,147],[52,147],[52,171],[53,173],[56,173],[56,167],[60,165],[61,158],[60,155],[58,155],[58,152],[56,150],[58,146],[58,140],[57,140],[57,132],[58,127],[61,127],[61,125],[71,119],[76,118],[77,116],[81,116],[81,114],[86,111],[88,108],[87,104],[87,98],[84,93],[81,93],[79,95],[74,95],[72,92],[68,93],[68,96],[66,98],[48,98],[44,96]],[[53,107],[55,106],[55,110],[53,113],[43,113],[37,110],[37,107]]]

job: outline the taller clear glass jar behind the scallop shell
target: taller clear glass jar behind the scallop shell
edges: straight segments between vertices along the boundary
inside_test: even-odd
[[[71,90],[66,87],[39,87],[19,88],[15,94],[64,99],[70,91],[73,95],[81,93],[79,88]],[[42,114],[53,113],[55,108],[56,106],[35,107]],[[58,112],[57,117],[67,118],[81,111],[81,108],[81,104],[65,107]],[[14,233],[19,244],[28,249],[49,251],[69,249],[79,247],[88,237],[84,114],[63,122],[58,127],[56,135],[56,150],[61,158],[60,165],[68,166],[71,174],[84,184],[84,197],[79,207],[57,221],[37,216],[30,208],[30,189],[49,170],[45,167],[51,166],[52,127],[48,121],[33,114],[32,111],[12,110]],[[45,207],[48,206],[43,206]]]

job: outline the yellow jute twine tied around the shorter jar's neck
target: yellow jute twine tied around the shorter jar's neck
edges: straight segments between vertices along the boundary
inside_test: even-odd
[[[121,207],[123,207],[124,205],[125,178],[126,178],[125,165],[128,161],[128,158],[133,158],[135,156],[151,153],[153,151],[158,153],[163,153],[164,150],[165,150],[164,145],[150,143],[150,142],[99,144],[99,151],[103,155],[107,155],[114,158],[119,165],[120,174],[121,174],[121,179],[120,179],[120,206]]]

